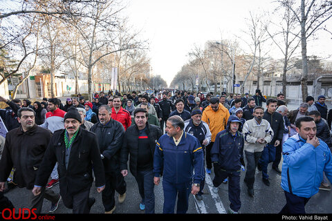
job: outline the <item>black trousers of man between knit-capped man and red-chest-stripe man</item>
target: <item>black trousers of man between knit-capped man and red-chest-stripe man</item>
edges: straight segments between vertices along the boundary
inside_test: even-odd
[[[124,181],[123,175],[118,172],[105,173],[106,185],[102,191],[102,204],[105,211],[111,211],[116,206],[115,195],[116,191],[122,195],[127,191],[127,184]]]

